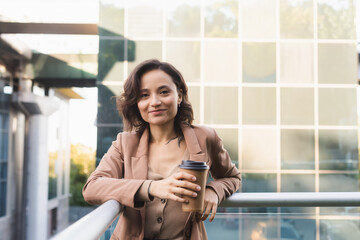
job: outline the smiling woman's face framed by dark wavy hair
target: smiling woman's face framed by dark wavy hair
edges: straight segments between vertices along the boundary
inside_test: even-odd
[[[181,100],[182,93],[162,70],[151,70],[142,76],[137,105],[150,126],[173,124]]]

